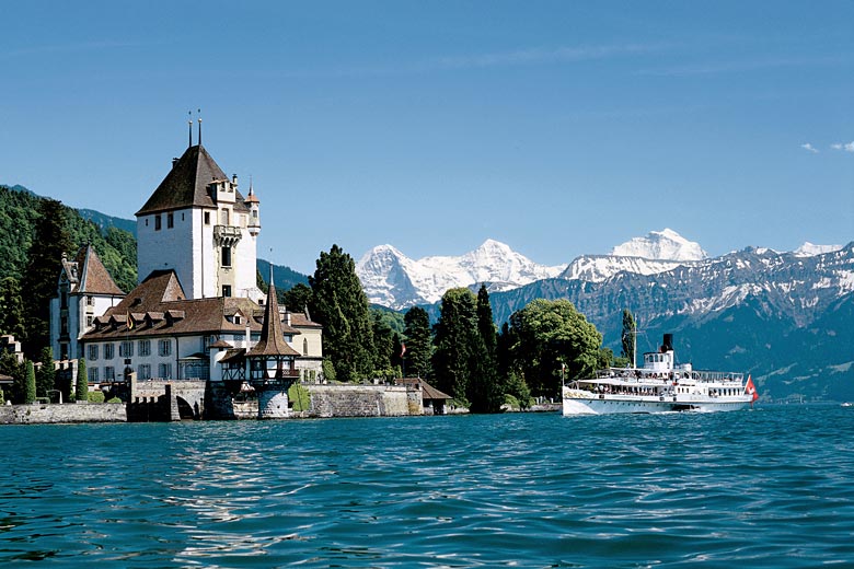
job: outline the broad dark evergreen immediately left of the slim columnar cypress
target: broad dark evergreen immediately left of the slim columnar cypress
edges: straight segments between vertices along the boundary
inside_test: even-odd
[[[432,369],[439,390],[468,406],[473,362],[483,347],[477,333],[477,300],[472,291],[450,289],[442,295],[434,342]]]

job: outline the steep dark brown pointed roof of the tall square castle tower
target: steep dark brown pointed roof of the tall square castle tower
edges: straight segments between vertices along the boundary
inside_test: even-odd
[[[205,147],[189,147],[136,214],[139,217],[191,207],[216,208],[217,204],[208,189],[215,179],[228,179],[228,176]],[[240,191],[234,190],[234,208],[247,210]]]

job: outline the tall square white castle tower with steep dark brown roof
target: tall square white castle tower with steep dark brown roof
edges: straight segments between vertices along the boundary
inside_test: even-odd
[[[244,198],[201,144],[187,148],[137,211],[139,282],[174,269],[189,299],[263,299],[256,287],[258,199]]]

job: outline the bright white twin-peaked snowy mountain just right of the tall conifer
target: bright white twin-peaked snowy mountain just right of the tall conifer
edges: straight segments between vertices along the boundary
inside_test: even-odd
[[[392,309],[438,302],[448,289],[478,282],[491,290],[508,290],[535,280],[553,278],[565,265],[539,265],[508,245],[486,240],[461,256],[411,259],[391,245],[380,245],[356,264],[368,300]]]

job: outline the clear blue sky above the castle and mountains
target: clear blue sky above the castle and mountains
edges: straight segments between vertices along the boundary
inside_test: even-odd
[[[304,272],[854,240],[854,2],[245,4],[4,2],[0,183],[134,219],[200,108]]]

